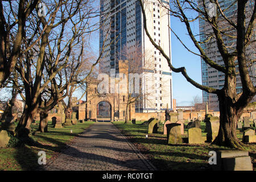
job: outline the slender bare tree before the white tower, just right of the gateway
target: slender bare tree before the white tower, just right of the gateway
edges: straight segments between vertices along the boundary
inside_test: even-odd
[[[155,82],[151,80],[151,88],[148,89],[147,92],[143,92],[142,90],[142,77],[151,78],[147,76],[144,72],[145,70],[154,71],[155,69],[155,60],[154,57],[151,57],[150,50],[146,50],[142,52],[141,44],[135,43],[132,46],[125,46],[121,52],[122,56],[125,56],[125,59],[128,60],[128,74],[127,74],[127,98],[124,99],[126,103],[126,111],[125,111],[125,123],[129,121],[129,110],[131,109],[131,105],[135,102],[139,102],[143,98],[146,98],[148,102],[155,100],[155,97],[149,97],[152,94],[155,95]],[[144,60],[144,65],[142,65]],[[136,77],[138,76],[138,77]],[[152,79],[152,78],[151,78]],[[129,85],[130,84],[130,85]]]

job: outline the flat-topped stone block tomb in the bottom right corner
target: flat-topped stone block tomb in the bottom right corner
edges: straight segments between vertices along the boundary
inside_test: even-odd
[[[214,167],[218,171],[253,170],[249,152],[240,150],[217,151],[217,165],[214,165]]]

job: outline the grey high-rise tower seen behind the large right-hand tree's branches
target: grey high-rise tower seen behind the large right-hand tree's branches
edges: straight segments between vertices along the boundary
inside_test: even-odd
[[[209,5],[209,1],[206,2],[206,7]],[[246,22],[249,22],[251,13],[253,12],[253,4],[251,2],[254,1],[248,1],[247,8],[246,8]],[[199,5],[202,5],[203,1],[198,1]],[[234,3],[234,0],[219,0],[218,3],[221,6],[221,9],[224,10],[231,6]],[[225,11],[225,15],[228,18],[231,18],[232,21],[236,22],[236,11],[237,6],[231,6],[228,10]],[[228,23],[219,24],[221,28],[229,28]],[[247,25],[246,25],[247,26]],[[208,39],[208,36],[210,32],[213,32],[212,27],[209,23],[205,22],[203,19],[199,19],[199,28],[200,28],[200,41],[203,42]],[[236,32],[234,32],[235,34]],[[232,32],[230,32],[232,34]],[[253,33],[252,39],[255,40],[255,29]],[[236,36],[236,35],[234,35]],[[225,36],[225,44],[226,46],[230,46],[229,51],[232,51],[232,48],[236,49],[236,39],[229,38],[228,36]],[[248,60],[255,60],[256,53],[255,53],[255,43],[251,43],[249,47],[247,47],[247,59]],[[216,42],[208,42],[205,44],[201,44],[201,47],[204,48],[205,52],[207,52],[210,59],[214,60],[217,64],[224,65],[224,61],[222,60],[221,54],[218,51],[217,43]],[[253,85],[255,86],[255,69],[256,69],[256,63],[248,64],[248,70],[249,74],[251,76],[251,80],[253,81]],[[221,89],[224,86],[225,82],[225,75],[222,72],[218,72],[216,69],[210,67],[203,59],[201,59],[201,70],[202,70],[202,83],[203,85],[210,86],[212,88]],[[238,67],[237,67],[238,72]],[[237,75],[237,93],[242,92],[242,84],[241,84],[241,78],[240,75]],[[254,100],[255,101],[255,97]],[[216,94],[209,94],[205,91],[203,91],[203,102],[209,103],[209,109],[218,111],[218,97]]]

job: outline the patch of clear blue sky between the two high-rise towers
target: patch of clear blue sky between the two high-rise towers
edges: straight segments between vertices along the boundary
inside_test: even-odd
[[[199,22],[191,24],[192,31],[199,32]],[[171,17],[171,28],[183,41],[183,43],[190,48],[192,51],[198,53],[193,42],[187,35],[187,29],[184,23],[180,23],[180,20]],[[175,68],[185,67],[188,76],[193,80],[202,83],[201,81],[201,60],[199,56],[190,53],[183,47],[183,45],[177,40],[174,34],[171,34],[171,45],[172,45],[172,65]],[[172,72],[172,94],[176,99],[177,106],[191,105],[192,98],[194,96],[202,97],[202,91],[191,85],[181,73]]]

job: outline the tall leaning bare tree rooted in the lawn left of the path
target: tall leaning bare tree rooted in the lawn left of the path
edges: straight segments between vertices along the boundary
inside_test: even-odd
[[[25,90],[25,95],[20,94],[25,107],[16,127],[18,135],[30,132],[32,119],[42,102],[42,92],[57,73],[67,67],[72,49],[80,45],[82,36],[90,30],[90,17],[97,15],[91,1],[60,0],[48,3],[51,6],[48,6],[47,16],[35,16],[30,19],[30,26],[23,28],[26,32],[23,34],[24,51],[15,67]],[[38,38],[40,43],[34,44],[33,40]]]

